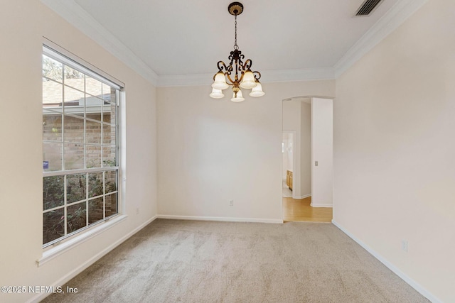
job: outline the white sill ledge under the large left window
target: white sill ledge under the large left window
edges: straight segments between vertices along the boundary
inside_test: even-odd
[[[43,251],[43,256],[41,256],[40,259],[36,260],[36,265],[40,267],[41,265],[47,263],[48,261],[57,257],[58,255],[61,255],[66,251],[75,248],[76,246],[84,243],[90,238],[93,238],[98,234],[106,231],[107,229],[112,228],[113,226],[119,224],[120,222],[127,219],[127,217],[128,217],[127,215],[116,216],[115,218],[109,219],[109,221],[105,221],[103,224],[100,224],[100,226],[95,226],[90,230],[86,231],[85,233],[82,233],[81,235],[75,236],[74,238],[70,238],[68,239],[68,241],[57,244],[53,248],[49,248],[48,250]]]

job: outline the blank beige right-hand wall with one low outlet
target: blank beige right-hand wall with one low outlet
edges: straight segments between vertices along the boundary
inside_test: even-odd
[[[454,28],[455,1],[429,1],[333,102],[333,220],[441,302],[455,302]]]

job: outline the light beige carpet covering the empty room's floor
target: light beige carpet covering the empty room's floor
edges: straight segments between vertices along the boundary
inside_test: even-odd
[[[157,219],[67,285],[78,293],[43,302],[429,302],[336,226],[309,222]]]

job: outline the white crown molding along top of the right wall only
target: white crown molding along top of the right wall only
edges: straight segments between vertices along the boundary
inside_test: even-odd
[[[340,77],[349,67],[360,60],[382,39],[398,28],[413,13],[420,9],[428,0],[400,0],[387,11],[354,45],[341,57],[333,70],[335,77]]]

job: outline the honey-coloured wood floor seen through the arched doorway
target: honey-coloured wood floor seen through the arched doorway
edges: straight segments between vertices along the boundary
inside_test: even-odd
[[[283,197],[283,221],[284,222],[331,222],[331,207],[312,207],[311,197],[304,199],[292,199]]]

